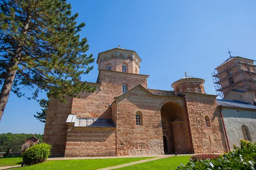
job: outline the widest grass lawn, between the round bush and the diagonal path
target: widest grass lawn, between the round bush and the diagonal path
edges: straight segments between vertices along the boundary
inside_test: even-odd
[[[47,161],[26,167],[17,167],[15,170],[97,170],[104,167],[112,167],[120,164],[150,159],[142,158],[115,158],[115,159],[76,159]]]

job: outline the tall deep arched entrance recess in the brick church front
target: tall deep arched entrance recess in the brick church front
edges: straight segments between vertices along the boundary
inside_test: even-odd
[[[183,107],[176,102],[166,102],[161,108],[161,119],[164,152],[191,153],[189,127]]]

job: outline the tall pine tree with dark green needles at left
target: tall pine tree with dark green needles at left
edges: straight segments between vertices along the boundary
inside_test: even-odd
[[[71,15],[66,0],[2,0],[0,2],[0,120],[10,92],[40,91],[65,102],[65,96],[93,91],[86,82],[73,84],[93,69],[87,39],[78,32],[78,14]]]

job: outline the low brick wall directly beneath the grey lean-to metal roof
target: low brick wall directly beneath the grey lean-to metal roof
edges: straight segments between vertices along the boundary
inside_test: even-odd
[[[116,156],[116,128],[69,126],[65,156]]]

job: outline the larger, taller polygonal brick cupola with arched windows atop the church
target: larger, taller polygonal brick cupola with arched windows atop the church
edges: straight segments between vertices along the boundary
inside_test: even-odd
[[[119,71],[139,74],[141,59],[135,51],[125,48],[112,48],[99,53],[97,58],[98,70]]]

